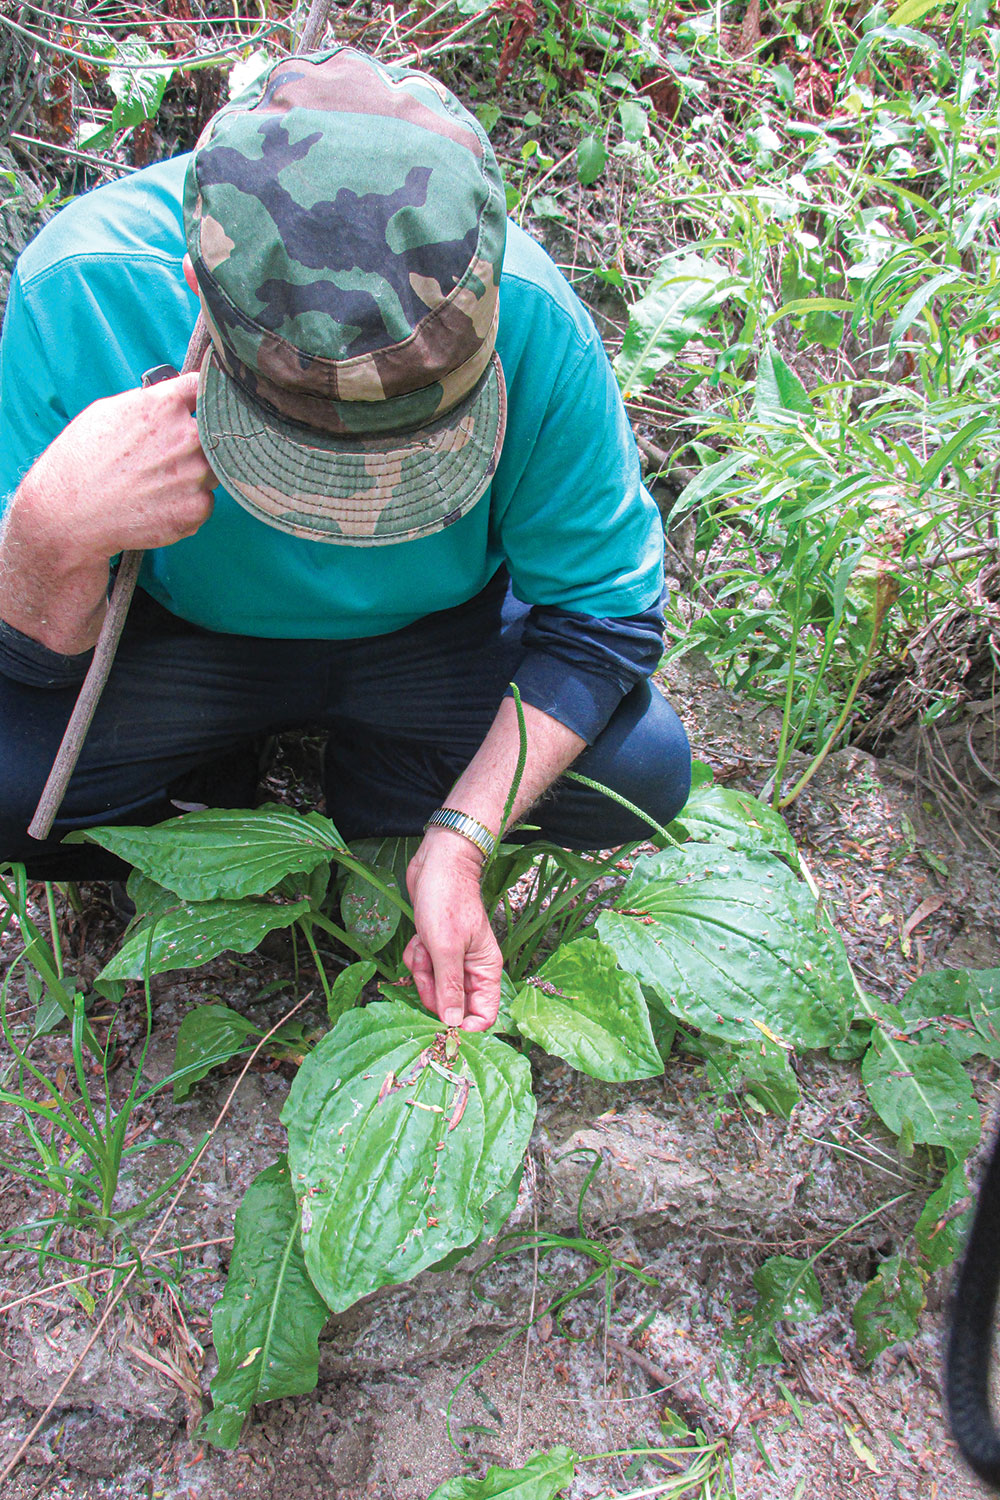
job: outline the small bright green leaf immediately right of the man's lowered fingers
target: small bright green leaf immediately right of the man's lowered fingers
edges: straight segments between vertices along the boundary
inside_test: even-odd
[[[663,1060],[642,986],[592,938],[558,948],[511,1008],[522,1036],[607,1083],[652,1078]]]

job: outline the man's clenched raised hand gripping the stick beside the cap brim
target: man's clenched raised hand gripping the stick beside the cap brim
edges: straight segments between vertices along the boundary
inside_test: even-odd
[[[67,562],[193,536],[217,483],[198,440],[196,393],[190,374],[85,406],[24,478],[22,526]]]

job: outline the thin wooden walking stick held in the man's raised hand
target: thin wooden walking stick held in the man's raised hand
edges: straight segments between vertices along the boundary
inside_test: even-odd
[[[319,45],[327,28],[330,4],[331,0],[312,0],[295,52],[310,52]],[[184,356],[181,375],[201,369],[201,362],[205,357],[211,339],[208,328],[205,327],[205,320],[201,314],[198,314],[195,332],[190,336],[187,354]],[[168,366],[159,366],[156,370],[150,370],[142,376],[142,384],[154,384],[156,380],[163,380],[168,374]],[[34,808],[34,818],[28,824],[28,834],[31,838],[48,838],[52,831],[52,824],[55,822],[55,814],[63,806],[69,778],[76,768],[76,762],[79,760],[79,752],[84,747],[87,730],[90,729],[97,704],[100,702],[100,694],[103,693],[108,681],[108,674],[111,672],[114,654],[118,650],[118,640],[121,639],[121,630],[124,627],[126,615],[129,614],[129,604],[132,603],[132,596],[135,594],[135,584],[139,576],[139,568],[142,567],[142,552],[121,554],[121,562],[118,564],[114,588],[108,602],[108,614],[100,626],[100,634],[97,636],[93,660],[87,670],[87,676],[82,681],[82,687],[79,688],[79,696],[76,698],[73,711],[69,716],[69,723],[66,724],[66,732],[55,753],[52,770],[48,774],[39,804]]]

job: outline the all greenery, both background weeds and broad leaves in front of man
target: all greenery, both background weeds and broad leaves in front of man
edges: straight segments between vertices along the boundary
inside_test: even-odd
[[[52,128],[45,156],[64,168],[49,198],[85,186],[91,160],[150,159],[156,132],[162,152],[186,148],[198,74],[220,87],[232,69],[238,84],[288,40],[274,4],[192,27],[187,52],[115,16],[91,6],[49,38],[54,76],[76,88],[72,132]],[[654,854],[502,846],[484,890],[507,980],[486,1038],[439,1032],[406,986],[405,840],[348,848],[319,814],[276,807],[97,831],[136,868],[138,916],[85,994],[15,873],[0,894],[33,1017],[7,1020],[10,970],[0,1101],[24,1152],[7,1166],[55,1208],[7,1244],[43,1257],[54,1227],[87,1224],[105,1236],[105,1269],[133,1264],[129,1226],[175,1179],[118,1202],[129,1112],[147,1095],[139,1070],[127,1106],[108,1104],[111,1029],[88,1006],[291,928],[330,1029],[267,1038],[301,1068],[288,1155],[237,1215],[208,1442],[235,1444],[255,1401],[312,1389],[328,1308],[496,1236],[534,1118],[529,1046],[607,1080],[655,1076],[684,1052],[718,1095],[784,1118],[799,1100],[793,1053],[858,1062],[901,1154],[925,1148],[940,1178],[906,1254],[882,1262],[855,1308],[858,1352],[874,1359],[913,1335],[927,1278],[961,1245],[963,1162],[979,1140],[967,1064],[1000,1056],[1000,972],[925,974],[898,1005],[873,1000],[780,810],[834,748],[906,726],[945,810],[973,806],[942,732],[993,698],[1000,664],[1000,28],[984,0],[864,16],[832,3],[445,0],[391,26],[379,6],[340,8],[336,38],[420,60],[477,110],[511,214],[604,320],[682,584],[669,657],[699,648],[780,712],[772,774],[760,801],[702,774]],[[0,176],[0,208],[16,212],[16,177]],[[609,892],[622,858],[631,873]],[[352,960],[336,976],[331,942]],[[60,1023],[73,1089],[31,1060]],[[262,1042],[225,1005],[192,1010],[175,1096]],[[759,1266],[756,1305],[726,1340],[744,1372],[780,1360],[784,1323],[817,1316],[814,1268],[835,1244]],[[636,1494],[729,1492],[721,1440],[664,1444],[655,1454],[681,1472]],[[435,1496],[550,1497],[580,1462],[558,1449],[520,1479],[490,1470]]]

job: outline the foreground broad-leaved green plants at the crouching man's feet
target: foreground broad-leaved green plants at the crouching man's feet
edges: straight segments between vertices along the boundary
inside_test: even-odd
[[[657,1076],[675,1047],[687,1047],[706,1059],[723,1092],[742,1083],[760,1107],[786,1118],[799,1096],[792,1052],[834,1048],[861,1058],[873,1108],[903,1150],[937,1148],[949,1170],[948,1204],[939,1208],[939,1190],[918,1226],[915,1263],[895,1257],[880,1268],[855,1310],[859,1348],[868,1358],[915,1326],[928,1270],[955,1251],[954,1228],[939,1242],[936,1226],[949,1216],[961,1192],[957,1168],[979,1142],[979,1110],[958,1056],[997,1054],[997,975],[930,975],[907,992],[901,1008],[876,1005],[858,987],[814,892],[790,867],[795,849],[774,812],[702,778],[684,825],[664,832],[678,842],[634,858],[610,904],[604,896],[604,909],[585,927],[579,916],[597,900],[591,888],[606,873],[606,860],[567,856],[567,874],[547,848],[501,849],[495,868],[507,861],[519,874],[532,868],[523,909],[555,951],[505,984],[501,1017],[487,1035],[441,1030],[412,999],[400,957],[412,927],[393,872],[396,850],[381,867],[364,866],[328,819],[277,807],[75,836],[135,864],[129,890],[136,918],[99,976],[100,988],[135,974],[148,984],[156,972],[204,963],[226,946],[226,932],[228,945],[244,951],[244,912],[253,924],[255,914],[268,910],[268,932],[301,926],[309,912],[309,921],[370,956],[333,987],[324,978],[333,1022],[325,1034],[286,1024],[268,1038],[280,1056],[301,1064],[282,1113],[288,1161],[258,1176],[249,1206],[237,1215],[231,1280],[214,1314],[220,1372],[204,1437],[229,1448],[252,1401],[312,1388],[325,1308],[343,1311],[376,1287],[406,1281],[496,1233],[516,1196],[535,1113],[528,1042],[610,1082]],[[625,854],[634,855],[636,846]],[[342,870],[333,896],[331,864]],[[364,903],[343,915],[345,892],[360,878],[399,921],[375,930]],[[321,910],[337,900],[343,928]],[[498,920],[504,912],[513,914],[507,886]],[[574,933],[559,940],[567,914],[577,918]],[[516,954],[523,952],[519,921],[507,933],[508,944],[514,934]],[[366,926],[364,944],[352,932],[358,922]],[[196,933],[213,936],[195,948]],[[363,1004],[375,966],[388,999]],[[18,1089],[3,1101],[18,1104],[25,1120],[40,1114],[49,1124],[46,1140],[25,1130],[45,1180],[67,1196],[69,1216],[82,1212],[75,1162],[81,1152],[88,1156],[102,1194],[87,1221],[114,1240],[184,1168],[138,1209],[115,1209],[120,1140],[138,1074],[127,1108],[114,1122],[106,1113],[102,1132],[82,1070],[82,1014],[81,996],[73,1006],[76,1098],[33,1101],[27,1074],[46,1088],[48,1080],[30,1064],[27,1041],[4,1026],[19,1071]],[[253,1040],[259,1046],[264,1036],[228,1006],[201,1005],[184,1017],[166,1082],[184,1096]],[[37,1168],[33,1174],[40,1178]],[[27,1233],[43,1251],[49,1232],[51,1224],[28,1226],[19,1242]],[[781,1320],[819,1312],[813,1266],[834,1244],[805,1262],[777,1256],[759,1269],[760,1300],[729,1340],[747,1370],[780,1360],[774,1332]],[[606,1263],[598,1275],[607,1270]]]

